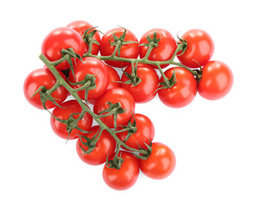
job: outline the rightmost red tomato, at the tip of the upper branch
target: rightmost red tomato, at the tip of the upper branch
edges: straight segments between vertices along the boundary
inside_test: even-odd
[[[204,99],[222,99],[232,89],[234,76],[232,69],[224,62],[211,61],[202,69],[198,93]]]

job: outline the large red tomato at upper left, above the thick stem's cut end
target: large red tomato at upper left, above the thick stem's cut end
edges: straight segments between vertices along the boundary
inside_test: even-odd
[[[43,39],[41,53],[45,55],[49,61],[55,62],[62,58],[61,50],[70,47],[80,56],[85,53],[85,42],[79,33],[68,27],[55,28]],[[73,58],[72,62],[74,62]],[[69,69],[70,65],[65,61],[56,65],[55,68],[58,70]]]

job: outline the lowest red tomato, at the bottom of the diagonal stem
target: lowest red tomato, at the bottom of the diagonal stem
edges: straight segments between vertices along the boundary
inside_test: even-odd
[[[122,191],[131,188],[136,183],[140,169],[138,160],[133,154],[127,151],[120,151],[119,156],[120,154],[124,160],[121,168],[116,170],[105,165],[102,175],[110,188]],[[113,159],[113,156],[110,159]]]

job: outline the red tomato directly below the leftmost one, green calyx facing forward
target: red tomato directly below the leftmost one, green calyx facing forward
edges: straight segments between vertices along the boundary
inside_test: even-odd
[[[55,109],[52,111],[52,114],[61,120],[69,119],[72,114],[74,114],[73,118],[77,119],[82,111],[81,106],[79,105],[79,103],[77,103],[77,100],[75,99],[66,101],[62,103],[60,106],[62,106],[63,108],[56,106]],[[66,131],[66,125],[60,121],[57,121],[55,117],[51,116],[51,129],[55,132],[57,136],[61,137],[62,139],[74,140],[78,138],[77,134],[84,134],[83,132],[77,129],[73,129],[70,132],[70,137],[68,138],[69,132]],[[92,127],[92,116],[86,113],[85,116],[80,121],[78,121],[77,126],[80,129],[88,131]]]

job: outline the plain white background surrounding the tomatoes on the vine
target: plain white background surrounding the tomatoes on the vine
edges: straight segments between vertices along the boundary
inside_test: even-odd
[[[4,1],[1,3],[0,203],[7,204],[256,204],[256,98],[254,1]],[[235,76],[219,101],[200,95],[183,109],[160,100],[137,105],[151,118],[155,141],[168,144],[177,166],[165,180],[143,174],[117,192],[103,166],[78,158],[75,141],[51,131],[50,115],[30,106],[25,76],[43,66],[40,45],[52,29],[86,20],[100,31],[118,25],[137,35],[165,28],[173,35],[201,28],[215,42],[214,60]]]

